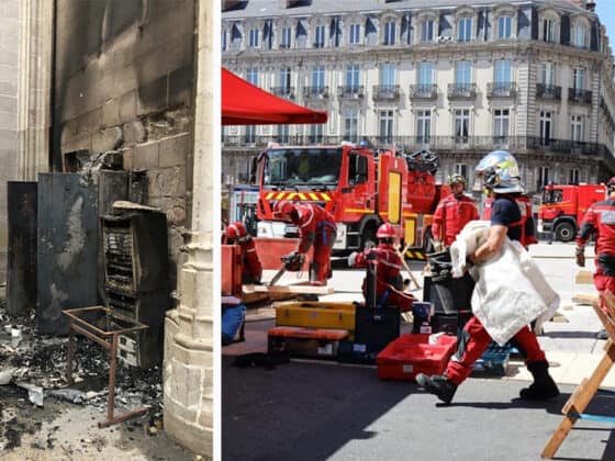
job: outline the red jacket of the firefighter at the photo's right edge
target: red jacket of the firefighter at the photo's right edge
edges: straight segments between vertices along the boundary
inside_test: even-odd
[[[577,244],[584,246],[594,231],[597,232],[596,255],[615,256],[615,199],[596,202],[589,207],[581,222]]]

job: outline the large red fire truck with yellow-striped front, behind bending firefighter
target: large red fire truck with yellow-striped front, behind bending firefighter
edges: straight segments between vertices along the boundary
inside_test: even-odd
[[[440,195],[437,157],[426,150],[411,155],[343,143],[340,146],[271,146],[254,159],[259,237],[295,237],[298,229],[276,222],[278,200],[313,202],[337,223],[336,254],[376,245],[376,231],[393,224],[410,245],[409,257],[423,259],[425,233]]]

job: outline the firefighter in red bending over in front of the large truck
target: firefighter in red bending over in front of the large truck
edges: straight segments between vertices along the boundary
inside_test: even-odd
[[[297,251],[289,255],[290,259],[305,255],[312,245],[314,246],[314,258],[310,265],[310,282],[326,285],[327,279],[332,277],[331,251],[337,235],[333,215],[313,203],[301,204],[281,200],[273,205],[273,218],[299,227],[301,241]]]

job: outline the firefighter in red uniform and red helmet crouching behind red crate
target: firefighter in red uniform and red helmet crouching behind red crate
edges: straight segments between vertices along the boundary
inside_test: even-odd
[[[401,293],[404,281],[401,276],[402,259],[394,247],[395,229],[391,224],[384,223],[378,228],[376,237],[379,240],[378,247],[350,254],[348,266],[365,268],[370,261],[374,261],[377,304],[394,305],[403,312],[410,311],[414,297]],[[364,280],[362,291],[367,300],[366,280]]]

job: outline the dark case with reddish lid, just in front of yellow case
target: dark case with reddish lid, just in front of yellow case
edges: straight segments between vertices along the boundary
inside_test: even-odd
[[[268,334],[269,355],[290,357],[335,359],[339,341],[348,338],[345,329],[273,327]]]

